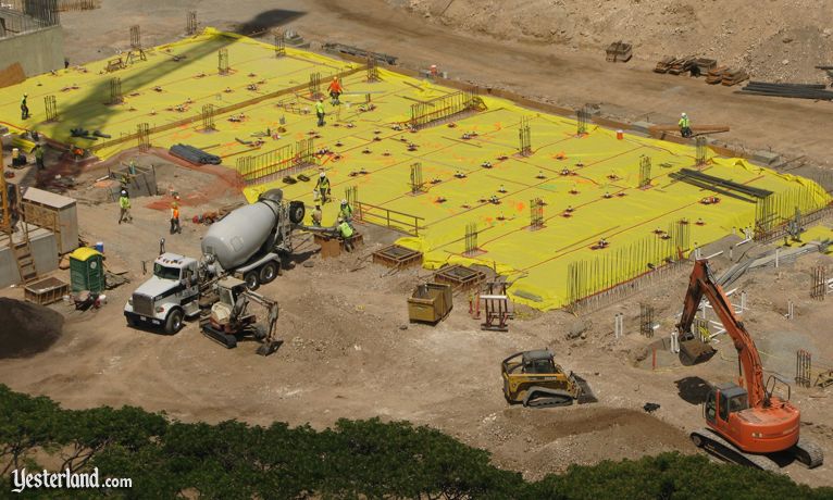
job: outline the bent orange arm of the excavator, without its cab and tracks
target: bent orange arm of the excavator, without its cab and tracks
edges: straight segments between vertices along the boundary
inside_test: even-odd
[[[746,380],[746,390],[749,393],[749,405],[754,408],[768,407],[769,396],[763,385],[763,365],[758,349],[743,322],[735,315],[732,303],[723,292],[723,288],[718,285],[711,273],[711,267],[709,267],[709,262],[705,259],[694,263],[683,305],[683,315],[676,325],[677,333],[682,338],[692,337],[692,324],[704,296],[708,299],[737,350],[737,358]]]

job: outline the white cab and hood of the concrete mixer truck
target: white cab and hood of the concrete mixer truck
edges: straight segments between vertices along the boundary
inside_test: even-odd
[[[196,259],[162,253],[153,261],[153,276],[142,283],[124,305],[127,325],[175,334],[186,317],[199,314],[199,276]]]

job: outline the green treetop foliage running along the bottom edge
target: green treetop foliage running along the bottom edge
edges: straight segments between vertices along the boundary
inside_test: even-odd
[[[571,466],[530,483],[493,466],[484,450],[407,422],[340,420],[322,432],[283,423],[186,424],[130,407],[62,410],[0,385],[0,496],[11,490],[10,471],[42,468],[35,457],[133,479],[128,490],[73,491],[82,498],[833,498],[831,488],[677,453]],[[65,498],[66,491],[28,496]]]

